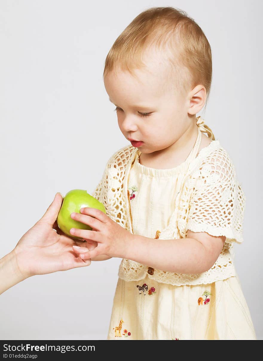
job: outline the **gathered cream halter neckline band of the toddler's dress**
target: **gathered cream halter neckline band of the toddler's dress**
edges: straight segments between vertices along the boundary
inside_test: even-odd
[[[199,145],[201,143],[201,135],[202,135],[201,131],[198,128],[198,135],[197,135],[197,138],[196,138],[196,142],[195,142],[193,148],[191,149],[191,152],[189,153],[189,155],[187,156],[185,161],[183,161],[182,163],[180,163],[179,165],[177,165],[174,168],[157,169],[157,168],[147,167],[147,166],[141,164],[139,162],[139,156],[141,155],[142,152],[139,151],[139,149],[138,149],[138,151],[136,152],[136,155],[135,155],[134,167],[137,168],[137,170],[140,173],[145,174],[145,175],[149,175],[149,176],[152,176],[152,177],[169,177],[171,175],[177,175],[179,173],[184,174],[186,172],[190,162],[193,159],[195,159],[195,157],[196,157],[197,151],[199,149]]]

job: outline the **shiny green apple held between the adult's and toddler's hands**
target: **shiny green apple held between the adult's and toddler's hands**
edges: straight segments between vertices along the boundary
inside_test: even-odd
[[[58,213],[57,223],[59,229],[66,235],[76,239],[81,238],[73,236],[70,233],[71,228],[92,230],[92,227],[75,221],[75,219],[72,219],[70,216],[73,212],[80,213],[80,209],[85,207],[97,208],[106,214],[103,203],[91,196],[87,191],[82,189],[73,189],[69,191],[63,198],[62,206]]]

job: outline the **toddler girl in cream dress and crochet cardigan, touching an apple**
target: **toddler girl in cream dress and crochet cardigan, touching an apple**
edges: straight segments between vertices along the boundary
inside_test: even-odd
[[[182,10],[150,8],[116,39],[104,85],[131,145],[107,162],[83,259],[122,258],[108,340],[256,339],[233,264],[245,195],[196,113],[210,92],[209,42]],[[204,133],[207,133],[206,136]],[[82,254],[83,253],[83,254]]]

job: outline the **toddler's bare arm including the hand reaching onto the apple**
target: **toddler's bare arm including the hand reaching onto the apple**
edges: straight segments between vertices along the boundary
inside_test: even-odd
[[[199,274],[209,270],[217,260],[226,239],[225,236],[191,231],[186,238],[148,238],[130,233],[94,208],[84,208],[81,214],[72,214],[71,217],[91,227],[94,225],[99,230],[71,230],[74,235],[87,241],[86,247],[82,247],[84,250],[81,253],[85,253],[81,258],[97,259],[104,257],[106,253],[108,257],[126,258],[173,273]]]

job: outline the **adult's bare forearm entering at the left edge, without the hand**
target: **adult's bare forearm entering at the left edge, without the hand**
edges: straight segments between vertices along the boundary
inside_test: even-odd
[[[23,281],[25,278],[20,273],[15,255],[10,252],[0,260],[0,294]]]

